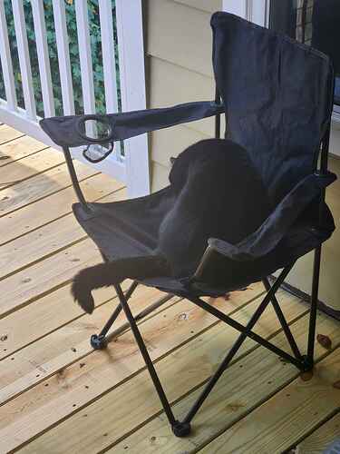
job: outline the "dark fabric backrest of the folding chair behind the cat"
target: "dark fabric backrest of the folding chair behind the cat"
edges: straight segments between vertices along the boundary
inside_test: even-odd
[[[226,136],[243,145],[272,202],[316,169],[333,106],[329,58],[286,35],[215,13],[213,67]]]

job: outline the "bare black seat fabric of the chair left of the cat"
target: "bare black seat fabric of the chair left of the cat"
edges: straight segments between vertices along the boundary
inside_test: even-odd
[[[137,199],[89,203],[92,211],[90,216],[81,203],[74,203],[73,212],[105,259],[113,261],[151,254],[157,248],[160,223],[174,202],[175,196],[169,186]],[[184,294],[188,290],[185,281],[171,276],[141,282],[176,294]],[[214,294],[222,293],[217,291]]]

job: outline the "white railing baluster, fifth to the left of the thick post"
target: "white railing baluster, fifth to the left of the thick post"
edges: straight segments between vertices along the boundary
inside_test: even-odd
[[[30,54],[28,50],[26,23],[24,20],[24,5],[22,0],[12,0],[12,7],[15,19],[15,35],[19,54],[20,73],[24,92],[24,109],[27,116],[35,120],[36,110],[34,88]]]

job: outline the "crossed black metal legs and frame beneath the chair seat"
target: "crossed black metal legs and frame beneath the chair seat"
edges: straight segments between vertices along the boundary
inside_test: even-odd
[[[320,254],[316,252],[316,261],[319,261],[320,259]],[[208,398],[209,393],[213,388],[215,387],[216,383],[218,382],[220,376],[222,373],[228,369],[228,366],[230,362],[234,359],[235,355],[238,353],[238,350],[242,346],[243,342],[246,341],[248,338],[256,341],[259,345],[267,348],[267,350],[272,351],[273,353],[277,354],[281,359],[287,360],[287,362],[293,364],[296,366],[297,369],[299,370],[310,370],[313,367],[313,357],[310,357],[308,355],[301,355],[300,350],[297,347],[296,341],[293,337],[292,332],[290,331],[290,328],[288,326],[287,320],[280,308],[279,302],[277,301],[276,297],[276,292],[280,285],[282,284],[283,281],[285,281],[287,274],[291,269],[293,268],[295,263],[291,263],[288,265],[283,271],[281,271],[280,275],[278,276],[277,280],[272,283],[272,285],[269,283],[267,278],[263,278],[263,283],[265,285],[267,294],[264,297],[264,299],[260,302],[258,305],[256,311],[254,311],[253,315],[251,316],[250,320],[248,321],[247,325],[244,326],[238,321],[235,321],[231,317],[229,317],[227,314],[225,314],[222,311],[219,311],[219,309],[215,308],[214,306],[210,305],[208,302],[201,300],[198,296],[191,294],[189,291],[186,294],[181,294],[180,296],[183,296],[187,298],[189,301],[192,303],[196,304],[199,306],[201,309],[208,311],[212,315],[214,315],[216,318],[218,318],[220,321],[225,322],[232,328],[236,329],[237,331],[240,332],[238,335],[238,339],[235,341],[233,346],[231,347],[230,350],[228,350],[228,353],[226,354],[224,360],[219,365],[218,370],[209,378],[209,380],[206,382],[203,390],[199,394],[198,399],[194,402],[192,407],[189,409],[189,412],[187,416],[182,420],[179,421],[175,418],[173,411],[171,409],[170,401],[168,400],[165,391],[160,383],[160,379],[158,377],[157,371],[155,370],[155,367],[152,363],[151,357],[149,355],[149,352],[145,346],[145,342],[142,339],[141,336],[141,331],[139,330],[139,327],[137,325],[137,321],[141,320],[141,318],[145,317],[151,311],[154,311],[158,307],[160,307],[161,304],[163,304],[165,301],[168,301],[173,295],[167,295],[166,297],[162,298],[160,301],[155,302],[152,304],[150,307],[146,308],[145,310],[141,311],[138,313],[135,317],[133,317],[131,313],[130,306],[128,304],[128,300],[131,297],[133,291],[137,287],[137,282],[133,282],[131,284],[131,287],[129,288],[128,291],[124,292],[121,290],[121,285],[115,285],[114,288],[117,292],[117,296],[119,298],[120,303],[116,307],[115,311],[112,313],[112,317],[107,321],[105,324],[104,328],[102,329],[101,333],[99,336],[102,336],[102,342],[106,343],[106,334],[109,331],[110,327],[112,326],[113,321],[117,318],[119,313],[124,311],[125,316],[127,318],[127,323],[124,323],[121,328],[119,328],[116,331],[113,331],[112,334],[108,337],[112,337],[113,335],[117,335],[118,333],[121,333],[122,331],[126,331],[129,327],[131,328],[131,331],[133,333],[133,336],[135,338],[135,341],[137,342],[137,345],[139,347],[139,350],[141,351],[141,355],[143,357],[143,360],[145,361],[146,367],[149,370],[151,380],[154,384],[154,387],[159,395],[160,402],[162,404],[162,407],[165,411],[165,414],[167,418],[169,419],[171,428],[174,432],[174,434],[178,437],[184,437],[189,435],[190,432],[190,422],[202,406],[203,402]],[[318,278],[318,267],[316,265],[316,270],[315,270],[315,278]],[[311,317],[310,321],[311,323],[314,323],[314,326],[310,326],[309,328],[309,343],[308,343],[308,353],[310,354],[311,352],[311,346],[310,343],[312,342],[312,339],[314,340],[314,334],[315,334],[315,319],[316,319],[316,304],[313,302],[316,299],[316,293],[317,293],[317,287],[315,285],[314,291],[312,292],[312,310],[311,310]],[[268,304],[271,303],[273,305],[274,311],[277,314],[277,319],[281,324],[282,331],[284,332],[287,341],[290,345],[291,350],[293,351],[294,356],[291,354],[287,353],[287,351],[282,350],[278,348],[276,345],[274,345],[272,342],[267,341],[267,339],[263,338],[262,336],[258,335],[256,332],[253,331],[254,326],[256,325],[257,321],[261,317],[262,313],[266,310]],[[92,336],[93,337],[93,336]],[[104,345],[101,347],[96,347],[95,342],[92,343],[92,346],[94,348],[104,348]]]

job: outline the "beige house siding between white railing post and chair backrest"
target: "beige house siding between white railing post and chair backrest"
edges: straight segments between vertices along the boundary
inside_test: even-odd
[[[145,0],[148,106],[212,100],[210,16],[222,0]],[[170,157],[211,137],[212,118],[151,133],[151,189],[168,184]]]

